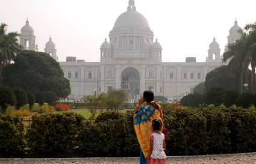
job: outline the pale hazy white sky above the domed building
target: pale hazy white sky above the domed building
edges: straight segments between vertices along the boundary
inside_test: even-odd
[[[128,0],[0,2],[0,22],[7,23],[8,32],[20,32],[28,17],[39,50],[51,35],[59,61],[66,56],[99,61],[101,44],[105,37],[109,42],[114,22],[128,7]],[[163,62],[184,62],[187,56],[204,62],[214,35],[222,54],[236,18],[241,28],[256,21],[255,0],[135,0],[135,5],[163,48]]]

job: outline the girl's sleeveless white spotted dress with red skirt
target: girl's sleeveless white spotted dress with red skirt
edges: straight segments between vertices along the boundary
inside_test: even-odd
[[[149,159],[149,163],[150,164],[166,163],[166,160],[165,160],[166,154],[163,149],[164,134],[161,133],[159,135],[157,133],[152,133],[151,135],[149,135],[149,139],[154,140],[153,151]]]

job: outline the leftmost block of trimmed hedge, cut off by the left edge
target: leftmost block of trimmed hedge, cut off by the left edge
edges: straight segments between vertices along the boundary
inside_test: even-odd
[[[23,157],[22,118],[0,114],[0,158]]]

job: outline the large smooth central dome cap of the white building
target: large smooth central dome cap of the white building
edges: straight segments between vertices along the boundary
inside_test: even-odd
[[[143,16],[136,10],[128,10],[125,13],[122,13],[114,23],[114,28],[123,28],[123,27],[149,28],[149,25],[145,16]]]

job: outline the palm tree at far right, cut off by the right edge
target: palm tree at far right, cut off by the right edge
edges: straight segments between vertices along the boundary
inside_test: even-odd
[[[252,92],[255,93],[255,64],[256,64],[256,22],[245,26],[248,38],[246,41],[246,48],[249,50],[252,67]]]

